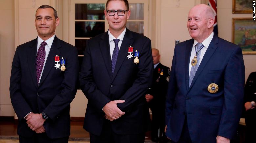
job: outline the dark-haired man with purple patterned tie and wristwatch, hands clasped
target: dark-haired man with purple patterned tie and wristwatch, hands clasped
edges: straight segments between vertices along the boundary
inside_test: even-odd
[[[18,116],[20,143],[67,143],[70,103],[79,76],[77,49],[58,39],[57,11],[36,11],[38,37],[17,47],[11,69],[10,97]]]

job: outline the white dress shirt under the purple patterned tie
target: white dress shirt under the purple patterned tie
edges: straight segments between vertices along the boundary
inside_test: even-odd
[[[50,37],[49,39],[47,39],[47,40],[45,41],[47,45],[44,46],[44,48],[45,48],[45,61],[44,61],[44,66],[45,66],[45,63],[46,63],[48,54],[49,54],[49,52],[50,52],[51,46],[52,46],[52,44],[53,44],[54,37],[55,37],[55,34],[54,34],[52,37]],[[37,36],[37,49],[36,49],[36,54],[37,54],[38,49],[39,49],[39,47],[40,47],[40,45],[41,45],[41,43],[42,43],[43,41],[44,41],[44,40],[43,40],[41,37]],[[44,66],[43,66],[42,73],[43,73],[43,71],[44,71]],[[41,76],[40,76],[40,79],[39,79],[39,83],[40,83],[41,77],[42,77],[42,75],[43,75],[42,73],[41,73]]]

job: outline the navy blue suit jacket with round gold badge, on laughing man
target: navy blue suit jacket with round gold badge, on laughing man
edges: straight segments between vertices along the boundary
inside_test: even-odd
[[[241,48],[214,35],[189,87],[194,39],[174,49],[166,99],[166,135],[178,141],[187,117],[192,142],[216,143],[216,136],[233,138],[241,116],[245,67]],[[216,93],[209,84],[219,86]]]

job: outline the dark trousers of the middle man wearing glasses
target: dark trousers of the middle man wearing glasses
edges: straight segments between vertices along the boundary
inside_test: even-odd
[[[113,132],[110,121],[106,120],[103,124],[101,135],[90,133],[91,143],[144,143],[145,133],[120,135]]]

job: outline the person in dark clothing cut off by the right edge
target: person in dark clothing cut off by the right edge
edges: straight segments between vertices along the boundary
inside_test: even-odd
[[[251,143],[256,140],[256,72],[252,72],[245,84],[245,142]]]

